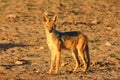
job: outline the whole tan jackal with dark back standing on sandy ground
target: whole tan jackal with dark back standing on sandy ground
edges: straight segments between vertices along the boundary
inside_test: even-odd
[[[87,37],[79,31],[73,32],[59,32],[56,30],[56,19],[54,15],[52,18],[48,18],[47,14],[43,14],[43,23],[46,31],[47,44],[51,51],[51,65],[49,74],[52,73],[53,65],[56,59],[56,74],[58,74],[60,66],[60,55],[61,49],[69,49],[76,61],[76,66],[73,70],[75,72],[80,65],[78,54],[80,55],[83,63],[85,72],[90,66],[90,56],[88,49]]]

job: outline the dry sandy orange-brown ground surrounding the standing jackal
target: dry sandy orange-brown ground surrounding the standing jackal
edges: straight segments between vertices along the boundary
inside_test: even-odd
[[[58,14],[60,31],[89,38],[91,66],[62,51],[58,75],[47,75],[50,51],[42,12]],[[0,0],[0,80],[120,80],[120,0]],[[82,64],[82,63],[81,63]]]

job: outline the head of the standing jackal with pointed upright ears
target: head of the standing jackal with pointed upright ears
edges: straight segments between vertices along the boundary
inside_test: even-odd
[[[55,24],[56,19],[57,19],[56,14],[52,18],[48,18],[47,13],[43,13],[44,28],[50,33],[56,29],[56,24]]]

